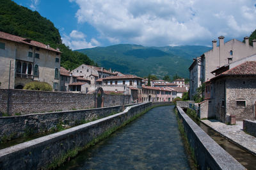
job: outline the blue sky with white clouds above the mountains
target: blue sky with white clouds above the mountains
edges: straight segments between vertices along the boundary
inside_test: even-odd
[[[256,29],[256,0],[14,0],[38,11],[72,50],[119,43],[212,45]]]

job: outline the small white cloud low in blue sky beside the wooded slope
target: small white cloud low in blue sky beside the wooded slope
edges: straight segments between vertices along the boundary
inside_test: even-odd
[[[72,50],[92,48],[100,45],[95,38],[92,38],[90,42],[87,42],[86,35],[76,30],[71,31],[69,35],[63,34],[61,40]]]

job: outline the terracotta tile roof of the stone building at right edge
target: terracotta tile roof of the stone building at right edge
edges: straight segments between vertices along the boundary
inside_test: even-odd
[[[213,77],[213,79],[217,79],[219,77],[223,76],[229,76],[229,75],[235,75],[235,76],[255,76],[256,75],[256,61],[246,61],[242,63],[241,65],[237,65],[234,68],[231,68],[230,70],[227,70],[220,75],[217,75],[216,77]]]

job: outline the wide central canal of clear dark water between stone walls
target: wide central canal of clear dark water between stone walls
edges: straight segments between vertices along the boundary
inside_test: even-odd
[[[59,169],[190,169],[173,107],[151,109]]]

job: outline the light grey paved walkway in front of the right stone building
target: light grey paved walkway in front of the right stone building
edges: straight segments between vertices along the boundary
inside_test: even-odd
[[[226,125],[218,120],[201,120],[205,125],[213,128],[233,143],[238,144],[253,155],[256,155],[256,137],[243,131],[243,121],[237,121],[236,125]]]

